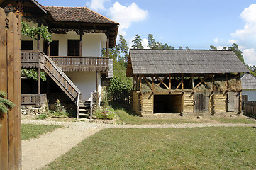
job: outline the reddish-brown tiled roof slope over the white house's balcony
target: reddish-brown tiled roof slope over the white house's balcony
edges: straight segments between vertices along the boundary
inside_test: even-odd
[[[44,6],[55,21],[118,24],[87,7]]]

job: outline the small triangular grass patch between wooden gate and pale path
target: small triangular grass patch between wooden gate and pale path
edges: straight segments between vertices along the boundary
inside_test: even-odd
[[[62,128],[61,125],[32,125],[22,124],[21,125],[21,140],[30,140],[36,138],[46,132],[52,132],[57,128]]]

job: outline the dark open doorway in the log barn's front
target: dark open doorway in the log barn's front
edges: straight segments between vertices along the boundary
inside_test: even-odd
[[[154,113],[181,113],[182,95],[154,95]]]

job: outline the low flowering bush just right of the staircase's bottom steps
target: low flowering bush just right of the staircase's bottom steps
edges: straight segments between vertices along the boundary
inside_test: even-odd
[[[113,119],[116,117],[116,112],[111,107],[97,108],[94,115],[99,119]]]

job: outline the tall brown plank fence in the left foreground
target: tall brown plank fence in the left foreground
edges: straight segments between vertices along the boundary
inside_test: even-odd
[[[0,91],[15,106],[0,113],[0,169],[21,169],[21,16],[0,8]]]

